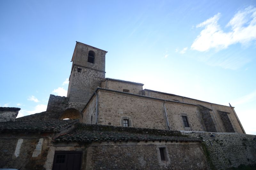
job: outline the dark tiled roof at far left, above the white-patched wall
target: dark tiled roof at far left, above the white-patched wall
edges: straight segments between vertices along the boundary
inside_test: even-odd
[[[78,119],[69,119],[52,121],[1,122],[0,132],[58,132],[78,121]]]

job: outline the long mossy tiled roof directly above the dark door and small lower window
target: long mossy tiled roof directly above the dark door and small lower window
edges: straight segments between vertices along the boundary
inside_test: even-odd
[[[179,131],[115,127],[107,125],[89,125],[77,123],[77,128],[68,134],[54,139],[53,142],[101,142],[101,141],[185,141],[201,142],[202,140],[187,137]]]

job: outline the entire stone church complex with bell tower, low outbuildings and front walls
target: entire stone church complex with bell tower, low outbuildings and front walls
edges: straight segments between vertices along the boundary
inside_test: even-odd
[[[0,107],[0,168],[255,167],[256,138],[234,107],[105,78],[106,54],[76,42],[67,97],[51,94],[45,112]]]

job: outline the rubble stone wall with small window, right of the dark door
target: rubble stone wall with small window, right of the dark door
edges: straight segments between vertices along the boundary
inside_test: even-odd
[[[159,147],[166,159],[161,160]],[[209,169],[200,143],[116,143],[88,146],[85,169]]]

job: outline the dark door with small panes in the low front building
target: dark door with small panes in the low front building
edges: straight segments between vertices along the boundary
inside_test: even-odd
[[[52,170],[80,170],[81,151],[55,151]]]

